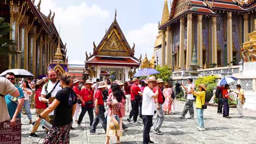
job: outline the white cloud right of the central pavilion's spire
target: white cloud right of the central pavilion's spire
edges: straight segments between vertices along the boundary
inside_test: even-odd
[[[147,23],[141,29],[127,32],[126,38],[131,47],[135,43],[135,56],[137,58],[139,58],[140,54],[144,58],[145,52],[147,51],[148,58],[151,59],[157,34],[158,24]]]

